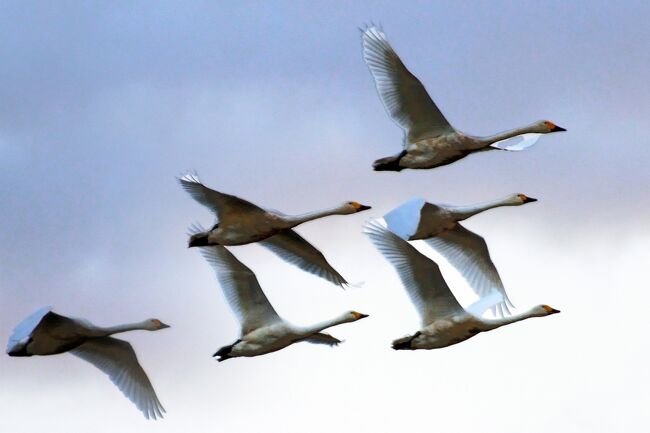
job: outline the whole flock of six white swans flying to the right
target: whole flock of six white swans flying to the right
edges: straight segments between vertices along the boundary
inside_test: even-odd
[[[363,59],[372,73],[379,96],[390,117],[405,132],[402,152],[375,161],[375,170],[434,168],[474,152],[523,150],[542,134],[565,130],[550,121],[539,121],[489,137],[465,135],[445,119],[422,83],[406,69],[381,29],[370,26],[363,30],[362,42]],[[188,246],[199,248],[214,269],[225,298],[241,324],[239,338],[214,353],[218,361],[264,355],[298,342],[335,346],[341,340],[324,330],[368,317],[349,311],[313,326],[292,325],[275,311],[253,271],[226,247],[259,243],[288,263],[345,286],[348,284],[345,278],[293,228],[330,215],[355,214],[370,206],[349,201],[302,215],[285,215],[208,188],[194,173],[178,180],[192,198],[216,217],[217,222],[209,230],[198,225],[190,229]],[[538,305],[523,313],[511,314],[513,305],[485,240],[459,222],[491,208],[535,201],[524,194],[513,194],[471,206],[450,206],[415,198],[391,210],[383,219],[365,223],[363,233],[394,267],[422,320],[419,331],[393,341],[394,349],[442,348],[481,332],[559,312],[548,305]],[[409,243],[414,240],[423,240],[455,267],[476,293],[478,301],[463,308],[438,265]],[[483,318],[488,310],[494,318]],[[145,417],[156,419],[161,418],[165,410],[151,381],[131,345],[113,335],[168,327],[158,319],[100,327],[84,319],[59,315],[45,307],[16,326],[9,338],[7,354],[33,356],[69,352],[107,374]]]

